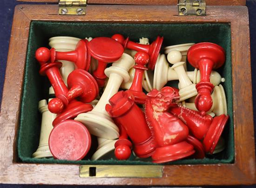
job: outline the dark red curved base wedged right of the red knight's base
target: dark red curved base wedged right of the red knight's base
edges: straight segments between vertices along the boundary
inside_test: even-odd
[[[195,153],[190,156],[190,158],[203,159],[205,157],[203,145],[199,140],[197,140],[194,136],[189,135],[186,141],[195,149]]]

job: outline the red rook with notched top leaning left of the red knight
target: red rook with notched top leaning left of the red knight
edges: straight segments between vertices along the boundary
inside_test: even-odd
[[[106,111],[113,117],[115,123],[122,126],[132,143],[136,156],[147,158],[154,151],[152,136],[148,128],[144,113],[134,103],[134,97],[130,91],[119,91],[109,99]]]

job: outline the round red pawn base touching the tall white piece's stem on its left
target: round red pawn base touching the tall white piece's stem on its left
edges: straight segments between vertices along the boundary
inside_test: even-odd
[[[99,86],[93,76],[85,70],[76,69],[67,77],[67,85],[72,88],[74,85],[80,85],[83,93],[79,96],[84,103],[90,103],[99,94]]]

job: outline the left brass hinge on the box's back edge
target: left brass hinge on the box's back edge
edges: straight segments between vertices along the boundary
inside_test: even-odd
[[[84,15],[87,0],[59,0],[59,14]]]

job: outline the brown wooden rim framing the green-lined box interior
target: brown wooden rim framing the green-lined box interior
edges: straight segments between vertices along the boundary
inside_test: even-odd
[[[18,5],[15,7],[0,112],[0,183],[71,185],[241,185],[256,183],[247,7],[208,6],[207,16],[202,17],[178,16],[176,6],[89,5],[86,16],[57,15],[57,9],[58,5]],[[116,16],[113,18],[111,13],[115,13]],[[79,165],[75,164],[17,163],[16,139],[27,50],[20,46],[27,46],[32,20],[94,23],[229,23],[231,27],[235,162],[232,164],[164,165],[162,178],[80,178]],[[241,50],[242,47],[243,50]]]

